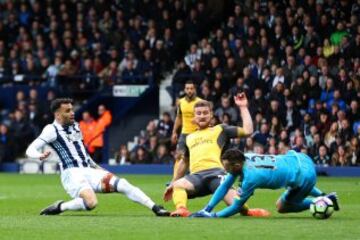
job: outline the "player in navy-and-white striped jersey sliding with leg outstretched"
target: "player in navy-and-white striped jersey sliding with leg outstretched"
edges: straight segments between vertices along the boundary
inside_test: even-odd
[[[90,158],[82,142],[79,125],[74,120],[71,99],[55,99],[50,108],[55,116],[54,122],[45,126],[40,136],[30,144],[26,154],[44,160],[50,151],[39,152],[39,149],[45,145],[52,147],[60,158],[62,185],[73,200],[57,201],[42,210],[41,215],[56,215],[68,210],[92,210],[97,205],[95,192],[119,192],[148,207],[157,216],[169,216],[168,211],[156,205],[139,188],[99,167]]]

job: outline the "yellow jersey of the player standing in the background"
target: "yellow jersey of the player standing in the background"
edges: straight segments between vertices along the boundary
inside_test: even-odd
[[[199,102],[201,100],[202,99],[199,97],[195,97],[190,102],[185,97],[183,97],[179,100],[178,114],[181,114],[181,120],[182,120],[181,133],[182,134],[189,134],[189,133],[196,131],[197,126],[195,123],[193,123],[194,106],[197,102]]]

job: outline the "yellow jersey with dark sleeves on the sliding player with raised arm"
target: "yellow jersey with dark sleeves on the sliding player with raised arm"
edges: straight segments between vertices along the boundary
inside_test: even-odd
[[[223,168],[220,159],[223,147],[230,138],[244,135],[243,128],[222,124],[189,134],[186,138],[186,151],[190,157],[190,173]]]

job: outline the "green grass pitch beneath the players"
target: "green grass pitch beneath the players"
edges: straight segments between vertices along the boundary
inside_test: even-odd
[[[169,176],[124,177],[162,203]],[[317,186],[340,196],[341,211],[330,219],[316,220],[308,211],[276,213],[282,190],[257,190],[250,199],[251,207],[271,211],[266,219],[158,218],[120,194],[99,194],[99,205],[91,212],[39,216],[55,200],[69,199],[59,176],[0,174],[0,239],[360,239],[360,179],[319,178]],[[201,209],[208,199],[190,200],[189,209]],[[172,203],[164,206],[173,209]]]

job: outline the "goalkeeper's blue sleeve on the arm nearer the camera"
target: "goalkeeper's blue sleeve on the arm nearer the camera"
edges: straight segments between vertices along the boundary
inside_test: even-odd
[[[256,184],[255,183],[244,183],[242,185],[242,192],[240,193],[240,197],[236,197],[233,203],[224,208],[223,210],[216,213],[217,217],[225,218],[230,217],[239,213],[242,206],[246,203],[246,201],[251,197],[251,195],[255,191]]]

